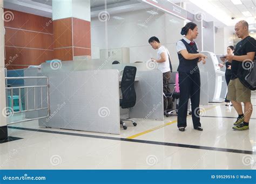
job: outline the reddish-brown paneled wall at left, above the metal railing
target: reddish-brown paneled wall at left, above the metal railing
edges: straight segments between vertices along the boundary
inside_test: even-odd
[[[51,18],[9,9],[4,9],[4,11],[5,15],[9,13],[11,16],[10,21],[4,22],[6,31],[5,66],[8,66],[8,69],[22,69],[53,59],[53,23]],[[18,57],[12,59],[16,54]]]

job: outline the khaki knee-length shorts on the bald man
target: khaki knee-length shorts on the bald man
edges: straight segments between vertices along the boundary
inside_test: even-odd
[[[227,86],[227,99],[237,102],[251,102],[251,90],[245,87],[238,78],[230,80]]]

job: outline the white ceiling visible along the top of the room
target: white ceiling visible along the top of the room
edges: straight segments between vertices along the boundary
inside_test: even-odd
[[[92,17],[104,9],[104,0],[90,0]],[[141,0],[140,0],[141,1]],[[158,0],[167,1],[167,0]],[[240,19],[255,23],[256,0],[241,0],[243,4],[234,5],[231,0],[168,0],[179,5],[185,4],[185,9],[193,14],[203,13],[206,22],[214,21],[217,27],[233,26]],[[145,3],[138,0],[106,0],[110,14],[127,12],[131,8],[144,9]],[[52,16],[52,0],[4,0],[4,8],[33,13],[40,16]],[[249,11],[251,17],[245,17],[242,12]],[[231,19],[235,17],[235,19]]]

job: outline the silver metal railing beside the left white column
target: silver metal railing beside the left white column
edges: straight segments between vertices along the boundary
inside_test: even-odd
[[[49,117],[50,114],[50,107],[49,107],[49,79],[48,77],[5,77],[5,80],[19,80],[19,79],[46,79],[46,85],[32,85],[32,86],[18,86],[18,87],[5,87],[6,94],[8,94],[8,90],[10,90],[10,100],[11,100],[11,112],[6,112],[6,115],[10,114],[15,114],[15,113],[23,113],[23,112],[30,112],[30,111],[38,111],[38,110],[47,110],[47,115],[44,117],[38,117],[38,118],[30,118],[30,119],[23,119],[23,120],[18,120],[14,122],[8,122],[8,125],[10,124],[15,124],[17,122],[24,122],[24,121],[32,121],[36,119],[41,119],[41,118],[47,118]],[[6,83],[7,84],[7,83]],[[43,88],[46,88],[46,98],[47,98],[47,107],[43,107]],[[25,110],[22,110],[22,96],[21,96],[21,90],[24,88],[24,93],[25,93]],[[40,100],[40,108],[36,107],[36,88],[40,88],[40,95],[41,95],[41,100]],[[14,111],[14,89],[18,89],[18,99],[19,99],[19,111]],[[29,91],[33,89],[33,108],[29,108],[29,98],[32,98],[31,96],[29,97]]]

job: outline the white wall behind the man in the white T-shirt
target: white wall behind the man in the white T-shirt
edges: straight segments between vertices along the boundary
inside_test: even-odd
[[[184,21],[161,11],[158,11],[157,15],[151,15],[146,11],[149,10],[111,15],[110,20],[107,21],[108,49],[129,47],[130,62],[144,62],[151,57],[156,57],[157,51],[153,50],[147,42],[151,36],[156,36],[169,50],[173,69],[176,70],[179,63],[176,43],[182,38],[180,30],[184,26]],[[124,19],[117,20],[112,18],[113,16]],[[105,22],[100,22],[98,18],[92,18],[91,44],[98,46],[99,49],[106,49],[105,40]],[[94,52],[93,48],[92,52]]]

